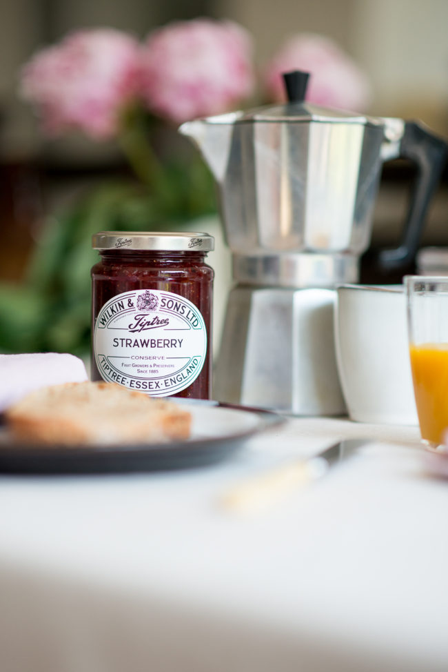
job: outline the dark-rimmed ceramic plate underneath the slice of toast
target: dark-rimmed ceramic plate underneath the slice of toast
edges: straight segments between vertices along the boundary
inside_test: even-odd
[[[158,471],[214,464],[241,448],[243,441],[284,421],[256,408],[176,399],[193,415],[192,437],[161,444],[63,448],[13,444],[0,434],[0,473],[77,474]]]

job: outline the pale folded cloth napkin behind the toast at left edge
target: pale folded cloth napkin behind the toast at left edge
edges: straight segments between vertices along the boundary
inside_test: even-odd
[[[74,355],[0,355],[0,413],[39,387],[78,383],[87,379],[82,359]]]

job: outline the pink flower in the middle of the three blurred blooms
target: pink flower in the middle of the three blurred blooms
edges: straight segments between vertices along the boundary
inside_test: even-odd
[[[154,30],[143,48],[147,106],[174,123],[226,112],[253,86],[252,43],[236,23],[171,23]]]

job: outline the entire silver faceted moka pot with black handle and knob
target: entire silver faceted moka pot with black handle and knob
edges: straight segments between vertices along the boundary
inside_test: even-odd
[[[376,264],[414,259],[446,144],[418,123],[305,101],[308,75],[285,75],[289,101],[184,123],[218,185],[236,284],[227,300],[214,397],[297,415],[340,415],[335,287],[356,283],[383,163],[418,167],[402,239]]]

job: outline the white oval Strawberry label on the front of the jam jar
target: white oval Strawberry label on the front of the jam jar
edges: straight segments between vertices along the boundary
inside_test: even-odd
[[[118,294],[99,311],[94,357],[101,377],[152,397],[185,390],[201,373],[207,330],[188,299],[161,290]]]

